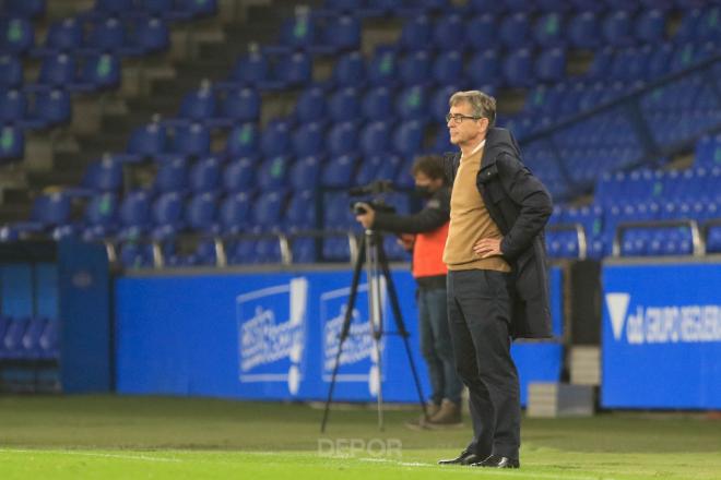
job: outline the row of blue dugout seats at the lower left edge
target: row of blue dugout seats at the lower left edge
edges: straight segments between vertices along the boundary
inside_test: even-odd
[[[58,360],[60,322],[0,315],[0,361]]]

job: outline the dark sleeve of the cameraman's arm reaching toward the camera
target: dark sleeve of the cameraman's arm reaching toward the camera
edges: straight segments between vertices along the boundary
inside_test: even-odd
[[[394,233],[423,233],[442,226],[450,218],[450,194],[447,188],[439,190],[426,204],[425,208],[414,215],[395,215],[376,212],[373,228]]]

